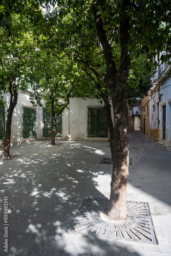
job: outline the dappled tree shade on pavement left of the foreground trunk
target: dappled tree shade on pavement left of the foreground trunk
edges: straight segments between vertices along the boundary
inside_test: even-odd
[[[66,232],[86,196],[109,194],[105,194],[110,190],[105,177],[111,176],[112,166],[98,165],[106,145],[62,142],[51,146],[38,141],[11,147],[11,154],[20,157],[0,162],[1,216],[4,196],[8,196],[9,256],[121,255],[112,240]],[[99,178],[104,193],[98,189]],[[2,228],[0,241],[4,241]],[[7,255],[2,242],[0,252]],[[130,255],[126,248],[125,253]]]

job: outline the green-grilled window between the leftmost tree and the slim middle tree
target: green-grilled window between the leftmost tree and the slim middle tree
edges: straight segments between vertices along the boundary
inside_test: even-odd
[[[36,137],[36,111],[29,108],[23,108],[23,137]]]

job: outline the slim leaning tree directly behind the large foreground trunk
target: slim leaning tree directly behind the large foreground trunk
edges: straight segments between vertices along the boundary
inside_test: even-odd
[[[57,15],[59,10],[57,8]],[[87,29],[87,26],[80,26],[81,22],[77,19],[78,13],[71,12],[68,13],[63,19],[60,19],[60,22],[56,24],[56,13],[49,14],[50,18],[48,20],[48,28],[51,28],[51,31],[48,29],[49,41],[51,45],[57,51],[60,49],[66,52],[66,54],[72,58],[72,61],[80,63],[82,70],[86,73],[87,78],[89,77],[89,83],[93,84],[91,87],[91,93],[94,97],[101,97],[104,102],[104,108],[106,110],[106,117],[108,120],[109,134],[110,134],[110,144],[111,144],[111,157],[112,161],[114,158],[113,148],[114,148],[114,125],[111,116],[111,104],[110,104],[110,93],[106,84],[103,81],[105,75],[105,59],[103,57],[103,52],[98,42],[97,34],[93,32],[92,24],[89,24],[90,29]],[[46,25],[47,26],[47,25]],[[53,29],[52,29],[53,28]],[[56,33],[55,31],[60,31]],[[59,35],[60,34],[60,35]],[[60,39],[59,39],[60,37]],[[91,41],[90,38],[91,37]],[[50,44],[49,44],[50,46]],[[112,42],[112,47],[115,49],[115,60],[119,63],[120,52],[119,52],[119,43]],[[140,57],[138,58],[138,60]],[[142,59],[142,58],[141,58]],[[145,57],[143,58],[144,62]],[[132,61],[132,76],[130,76],[129,81],[127,82],[126,88],[129,93],[129,97],[137,96],[135,92],[138,93],[138,89],[135,90],[135,87],[138,87],[140,75],[143,72],[147,72],[147,69],[143,63],[141,68],[137,67],[138,61]],[[141,61],[142,63],[142,61]],[[135,77],[136,76],[136,77]],[[142,75],[141,75],[142,80]],[[130,87],[131,84],[131,87]],[[83,85],[84,86],[84,85]],[[151,86],[151,82],[146,84],[143,87],[143,92],[148,91],[148,88]],[[90,92],[90,90],[88,89]],[[143,93],[141,91],[141,93]],[[87,92],[88,93],[88,92]],[[139,92],[140,93],[140,92]]]

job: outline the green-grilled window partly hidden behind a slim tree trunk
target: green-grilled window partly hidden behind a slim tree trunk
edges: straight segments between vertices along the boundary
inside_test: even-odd
[[[53,117],[49,110],[44,110],[44,137],[50,137],[52,135]],[[56,136],[62,136],[62,116],[58,116],[56,120]]]

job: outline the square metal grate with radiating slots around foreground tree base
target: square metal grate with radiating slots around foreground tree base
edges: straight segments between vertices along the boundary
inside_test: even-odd
[[[100,212],[108,208],[108,204],[109,200],[106,198],[86,198],[68,232],[157,244],[148,203],[127,201],[127,218],[122,223],[111,223],[100,219]]]

